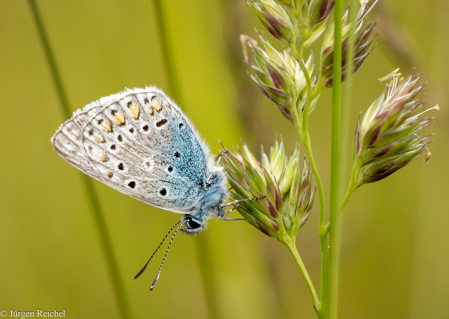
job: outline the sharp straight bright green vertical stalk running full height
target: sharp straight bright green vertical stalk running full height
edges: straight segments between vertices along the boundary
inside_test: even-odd
[[[341,117],[341,18],[342,0],[334,2],[334,69],[332,89],[332,125],[330,143],[330,224],[329,224],[329,318],[337,318],[337,284],[340,250],[340,223],[338,188],[340,157],[340,117]]]

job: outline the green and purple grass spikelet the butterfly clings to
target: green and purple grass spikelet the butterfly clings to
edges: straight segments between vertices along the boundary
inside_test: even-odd
[[[268,236],[293,240],[312,211],[315,190],[308,164],[299,169],[297,148],[287,158],[284,144],[275,142],[270,152],[261,152],[260,163],[245,142],[234,152],[225,149],[223,164],[236,199],[261,197],[242,202],[239,213]]]

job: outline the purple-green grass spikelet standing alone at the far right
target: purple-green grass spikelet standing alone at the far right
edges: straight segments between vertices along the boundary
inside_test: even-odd
[[[397,71],[397,70],[396,70]],[[419,131],[433,121],[418,112],[424,102],[417,98],[423,84],[412,73],[404,80],[392,75],[386,91],[368,108],[357,123],[352,143],[354,186],[379,181],[409,164],[428,148],[429,136]],[[430,152],[429,152],[430,154]],[[430,155],[428,156],[430,157]]]

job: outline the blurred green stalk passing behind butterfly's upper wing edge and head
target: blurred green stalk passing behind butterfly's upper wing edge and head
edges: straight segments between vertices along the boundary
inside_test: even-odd
[[[158,26],[159,40],[161,41],[162,56],[170,85],[170,92],[172,97],[180,103],[180,86],[176,74],[176,65],[172,54],[173,50],[167,30],[164,10],[160,0],[153,0],[153,4],[156,24]],[[194,243],[197,251],[198,265],[200,267],[204,289],[206,290],[206,302],[209,310],[209,318],[220,319],[220,300],[218,299],[218,289],[213,273],[214,267],[212,266],[211,261],[211,251],[207,243],[207,233],[202,233],[199,236],[195,236]]]

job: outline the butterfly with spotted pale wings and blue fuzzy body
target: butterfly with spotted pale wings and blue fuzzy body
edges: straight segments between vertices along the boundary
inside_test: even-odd
[[[163,238],[179,224],[168,248],[179,230],[198,233],[214,215],[230,220],[225,217],[239,203],[255,199],[224,204],[229,191],[218,166],[221,156],[214,164],[194,125],[154,86],[126,89],[86,105],[59,127],[51,142],[64,160],[96,180],[153,207],[183,214]],[[226,213],[231,205],[235,207]]]

